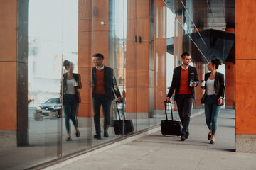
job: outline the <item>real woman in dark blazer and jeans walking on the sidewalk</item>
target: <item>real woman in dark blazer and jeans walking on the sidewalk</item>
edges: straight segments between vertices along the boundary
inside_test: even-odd
[[[220,65],[220,59],[211,60],[207,66],[210,72],[205,74],[206,84],[203,85],[204,83],[201,82],[201,88],[206,90],[201,103],[205,103],[206,125],[210,130],[208,133],[210,144],[215,144],[218,115],[221,106],[224,104],[224,74],[217,72]]]

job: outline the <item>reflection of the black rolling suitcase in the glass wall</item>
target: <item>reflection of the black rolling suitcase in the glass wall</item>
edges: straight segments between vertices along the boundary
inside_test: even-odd
[[[121,116],[120,116],[119,108],[118,108],[118,104],[120,102],[117,101],[116,103],[117,103],[117,113],[118,113],[118,116],[119,116],[119,120],[114,120],[114,133],[115,133],[115,135],[132,134],[134,132],[133,123],[132,123],[132,120],[125,120],[124,104],[122,105],[124,120],[121,120]]]

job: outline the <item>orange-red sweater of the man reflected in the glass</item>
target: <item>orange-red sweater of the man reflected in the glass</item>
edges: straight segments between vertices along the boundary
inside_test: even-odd
[[[96,69],[95,86],[93,87],[93,94],[106,94],[104,88],[104,69]]]

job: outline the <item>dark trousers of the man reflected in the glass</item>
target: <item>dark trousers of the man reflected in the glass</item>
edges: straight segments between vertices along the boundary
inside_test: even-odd
[[[100,106],[102,106],[104,116],[104,131],[107,131],[110,125],[110,107],[112,100],[107,98],[106,94],[92,94],[93,111],[94,111],[94,123],[96,133],[100,133]]]

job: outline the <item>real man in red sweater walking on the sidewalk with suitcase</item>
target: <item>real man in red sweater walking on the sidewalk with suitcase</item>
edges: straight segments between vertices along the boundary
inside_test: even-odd
[[[181,55],[183,64],[174,69],[174,75],[171,82],[171,87],[167,95],[166,101],[170,101],[170,98],[175,90],[174,101],[178,106],[178,115],[181,119],[181,141],[188,139],[191,108],[193,104],[193,98],[195,98],[195,87],[198,86],[198,74],[196,67],[191,67],[191,56],[188,52],[184,52]]]

